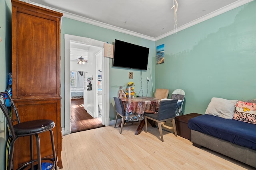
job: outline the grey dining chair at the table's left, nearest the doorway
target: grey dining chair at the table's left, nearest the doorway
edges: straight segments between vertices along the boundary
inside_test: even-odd
[[[116,121],[115,121],[115,126],[116,127],[116,122],[118,119],[118,115],[122,118],[122,123],[121,123],[121,129],[120,129],[120,134],[122,133],[123,127],[124,127],[124,122],[125,122],[125,111],[124,111],[124,104],[120,98],[114,97],[115,105],[116,105]]]

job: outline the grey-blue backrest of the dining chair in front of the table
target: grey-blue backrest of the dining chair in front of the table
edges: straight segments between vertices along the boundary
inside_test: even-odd
[[[174,100],[162,100],[159,104],[157,118],[158,120],[164,120],[175,117],[175,111],[177,107],[177,99]]]

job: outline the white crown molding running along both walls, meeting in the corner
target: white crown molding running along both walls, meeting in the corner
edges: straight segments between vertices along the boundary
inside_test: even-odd
[[[73,20],[81,21],[81,22],[84,22],[84,23],[89,23],[89,24],[92,24],[92,25],[96,25],[96,26],[103,27],[103,28],[106,28],[106,29],[111,29],[111,30],[118,31],[118,32],[121,32],[121,33],[126,33],[128,35],[133,35],[135,37],[140,37],[140,38],[143,38],[143,39],[148,39],[150,41],[157,41],[159,39],[162,39],[164,37],[167,37],[169,35],[172,35],[174,33],[182,31],[183,29],[186,29],[188,27],[196,25],[196,24],[198,24],[198,23],[200,23],[202,21],[206,21],[206,20],[208,20],[210,18],[213,18],[215,16],[223,14],[224,12],[228,12],[228,11],[234,9],[234,8],[237,8],[239,6],[242,6],[242,5],[247,4],[249,2],[252,2],[252,1],[254,1],[254,0],[238,0],[236,2],[233,2],[230,5],[224,6],[223,8],[220,8],[220,9],[214,11],[214,12],[211,12],[210,14],[202,16],[202,17],[200,17],[200,18],[198,18],[198,19],[196,19],[194,21],[186,23],[185,25],[182,25],[182,26],[178,27],[177,29],[173,29],[172,31],[164,33],[164,34],[162,34],[162,35],[160,35],[158,37],[150,37],[150,36],[147,36],[147,35],[136,33],[134,31],[129,31],[127,29],[123,29],[123,28],[116,27],[116,26],[113,26],[113,25],[109,25],[109,24],[106,24],[106,23],[103,23],[103,22],[99,22],[99,21],[96,21],[96,20],[91,20],[89,18],[78,16],[76,14],[72,14],[72,13],[69,13],[69,12],[65,12],[65,11],[62,11],[62,10],[55,9],[55,8],[50,8],[48,6],[43,6],[41,4],[30,2],[30,0],[24,0],[24,2],[27,2],[29,4],[33,4],[33,5],[36,5],[36,6],[41,6],[43,8],[47,8],[47,9],[50,9],[50,10],[61,12],[61,13],[63,13],[63,17],[66,17],[66,18],[70,18],[70,19],[73,19]]]

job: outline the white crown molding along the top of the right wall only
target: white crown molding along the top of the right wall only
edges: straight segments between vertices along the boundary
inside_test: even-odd
[[[252,2],[252,1],[254,1],[254,0],[238,0],[238,1],[236,1],[236,2],[233,2],[232,4],[229,4],[228,6],[224,6],[223,8],[220,8],[220,9],[214,11],[214,12],[211,12],[210,14],[207,14],[207,15],[202,16],[202,17],[200,17],[200,18],[198,18],[198,19],[196,19],[196,20],[194,20],[194,21],[191,21],[191,22],[189,22],[189,23],[186,23],[185,25],[182,25],[182,26],[178,27],[177,29],[173,29],[172,31],[169,31],[168,33],[165,33],[165,34],[160,35],[160,36],[158,36],[158,37],[155,38],[155,41],[157,41],[157,40],[159,40],[159,39],[162,39],[162,38],[164,38],[164,37],[167,37],[167,36],[169,36],[169,35],[172,35],[172,34],[174,34],[174,33],[177,33],[177,32],[179,32],[179,31],[182,31],[183,29],[186,29],[186,28],[188,28],[188,27],[191,27],[191,26],[193,26],[193,25],[196,25],[196,24],[198,24],[198,23],[200,23],[200,22],[202,22],[202,21],[209,20],[210,18],[213,18],[213,17],[215,17],[215,16],[218,16],[218,15],[220,15],[220,14],[223,14],[223,13],[225,13],[225,12],[228,12],[228,11],[230,11],[230,10],[233,10],[234,8],[237,8],[237,7],[239,7],[239,6],[242,6],[242,5],[247,4],[247,3],[249,3],[249,2]]]

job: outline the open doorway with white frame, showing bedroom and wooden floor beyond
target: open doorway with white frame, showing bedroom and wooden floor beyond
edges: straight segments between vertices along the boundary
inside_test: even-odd
[[[109,59],[103,57],[104,42],[68,34],[64,41],[65,134],[109,125]]]

